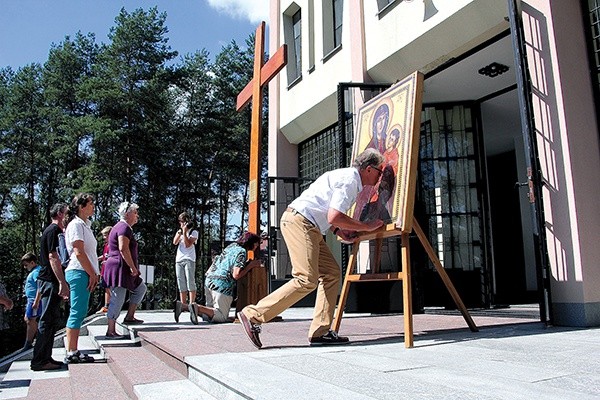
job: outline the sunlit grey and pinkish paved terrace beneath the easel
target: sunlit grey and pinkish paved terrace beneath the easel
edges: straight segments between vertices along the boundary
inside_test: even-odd
[[[415,315],[410,349],[402,315],[357,314],[342,321],[340,334],[350,337],[349,345],[311,347],[310,314],[291,309],[282,322],[265,324],[264,347],[257,350],[239,324],[192,325],[187,313],[176,324],[169,312],[140,312],[146,322],[136,330],[144,345],[107,354],[115,364],[126,354],[138,368],[126,391],[141,399],[600,398],[598,329],[546,327],[532,307],[472,311],[479,332],[455,312]],[[141,353],[150,347],[185,361],[187,372],[161,379],[166,364],[141,361],[150,360]]]

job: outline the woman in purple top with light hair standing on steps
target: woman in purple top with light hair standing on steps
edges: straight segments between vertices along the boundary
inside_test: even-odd
[[[102,278],[110,288],[110,305],[107,338],[119,337],[116,321],[130,292],[129,308],[123,322],[128,325],[141,324],[144,321],[135,318],[137,305],[146,294],[146,284],[140,277],[138,266],[138,245],[131,227],[138,222],[138,205],[125,201],[119,205],[121,220],[113,226],[108,236],[108,258],[102,270]]]

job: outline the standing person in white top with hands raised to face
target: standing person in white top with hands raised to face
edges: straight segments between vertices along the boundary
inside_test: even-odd
[[[175,257],[175,275],[179,287],[179,300],[175,300],[175,322],[179,322],[179,315],[189,304],[196,302],[196,241],[198,231],[192,229],[191,218],[188,213],[179,214],[179,230],[175,233],[173,244],[177,246]]]

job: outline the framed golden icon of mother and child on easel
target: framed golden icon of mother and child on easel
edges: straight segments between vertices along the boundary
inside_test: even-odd
[[[374,148],[383,154],[385,165],[379,182],[357,197],[350,210],[354,218],[412,229],[422,87],[423,75],[415,72],[360,108],[352,158]]]

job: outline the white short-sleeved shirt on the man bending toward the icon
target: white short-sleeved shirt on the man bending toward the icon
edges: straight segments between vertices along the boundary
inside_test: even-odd
[[[321,175],[289,206],[315,224],[322,234],[326,234],[331,227],[327,222],[329,209],[346,213],[362,187],[358,169],[335,169]]]

